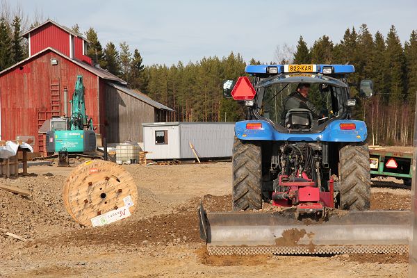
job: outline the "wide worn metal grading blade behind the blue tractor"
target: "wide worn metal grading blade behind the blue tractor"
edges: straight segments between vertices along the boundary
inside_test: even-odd
[[[206,212],[200,236],[208,254],[405,253],[409,211],[352,211],[325,220],[297,220],[293,213]]]

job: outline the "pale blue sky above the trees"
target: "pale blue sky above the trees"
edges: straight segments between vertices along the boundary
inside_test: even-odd
[[[417,1],[133,1],[20,0],[24,13],[35,10],[44,19],[82,32],[95,28],[103,47],[126,41],[137,48],[145,65],[196,62],[204,56],[228,56],[231,51],[268,63],[277,46],[296,46],[300,35],[309,47],[322,35],[334,43],[346,28],[368,25],[384,37],[395,25],[401,42],[417,30]]]

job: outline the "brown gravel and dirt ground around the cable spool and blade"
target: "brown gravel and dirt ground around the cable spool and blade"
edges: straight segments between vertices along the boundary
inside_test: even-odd
[[[197,207],[231,209],[231,163],[125,165],[137,181],[138,206],[129,218],[105,227],[80,227],[61,195],[70,167],[30,167],[27,177],[1,184],[1,277],[407,277],[408,254],[338,256],[208,256],[199,240]],[[410,209],[410,190],[372,188],[373,209]],[[300,265],[302,269],[300,269]],[[293,272],[293,269],[297,273]]]

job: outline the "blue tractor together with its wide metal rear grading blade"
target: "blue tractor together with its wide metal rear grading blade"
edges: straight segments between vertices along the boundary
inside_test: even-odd
[[[248,109],[235,128],[233,211],[198,210],[208,254],[407,252],[409,212],[370,211],[368,134],[350,111],[354,67],[245,70],[252,81],[223,84]],[[372,81],[354,86],[373,95]]]

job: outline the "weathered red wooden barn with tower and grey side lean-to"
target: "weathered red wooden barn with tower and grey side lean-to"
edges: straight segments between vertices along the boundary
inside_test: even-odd
[[[142,142],[142,122],[168,121],[174,111],[136,91],[117,76],[91,65],[88,41],[48,20],[24,33],[29,57],[0,72],[0,138],[35,136],[44,152],[40,127],[52,116],[69,115],[77,75],[83,76],[85,108],[96,133],[109,143]],[[67,107],[67,111],[65,108]]]

